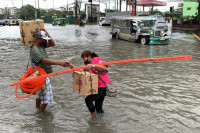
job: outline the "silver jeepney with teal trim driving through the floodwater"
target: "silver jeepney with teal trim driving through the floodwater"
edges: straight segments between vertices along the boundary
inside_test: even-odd
[[[111,18],[112,38],[136,40],[141,44],[167,44],[171,37],[161,15],[116,16]]]

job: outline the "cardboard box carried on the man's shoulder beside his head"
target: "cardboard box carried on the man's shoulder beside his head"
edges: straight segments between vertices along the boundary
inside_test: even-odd
[[[34,35],[44,28],[44,21],[43,20],[33,20],[33,21],[22,21],[19,22],[20,34],[21,34],[21,41],[24,45],[33,45],[36,41]]]

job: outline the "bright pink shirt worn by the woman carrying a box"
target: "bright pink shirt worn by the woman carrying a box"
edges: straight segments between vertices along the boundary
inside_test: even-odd
[[[92,59],[91,64],[99,64],[99,63],[103,63],[104,61],[99,58],[99,57],[94,57]],[[101,79],[106,83],[106,84],[110,84],[110,79],[108,77],[108,71],[106,73],[101,73],[101,72],[97,72],[96,69],[92,69],[99,77],[101,77]],[[94,73],[92,70],[90,70],[89,72]],[[98,87],[106,87],[106,85],[103,83],[103,81],[101,81],[100,79],[98,79]]]

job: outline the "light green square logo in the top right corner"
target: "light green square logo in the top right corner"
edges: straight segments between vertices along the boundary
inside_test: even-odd
[[[183,17],[192,17],[198,15],[198,6],[197,1],[188,1],[185,0],[183,3]]]

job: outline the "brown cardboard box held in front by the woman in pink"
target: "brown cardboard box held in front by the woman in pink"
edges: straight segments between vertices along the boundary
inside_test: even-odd
[[[73,91],[83,96],[98,94],[98,75],[87,71],[74,71]]]

